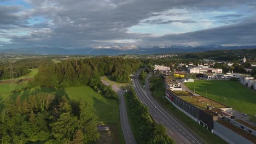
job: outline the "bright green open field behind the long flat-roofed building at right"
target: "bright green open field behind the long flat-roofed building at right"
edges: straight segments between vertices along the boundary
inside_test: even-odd
[[[232,107],[235,110],[247,113],[249,115],[256,114],[256,92],[243,86],[237,81],[228,80],[196,80],[195,82],[186,83],[190,89],[206,96],[219,103]]]

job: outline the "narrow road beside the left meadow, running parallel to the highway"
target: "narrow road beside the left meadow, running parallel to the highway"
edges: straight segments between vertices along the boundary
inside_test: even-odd
[[[102,81],[102,83],[107,86],[109,85],[109,83],[106,81]],[[127,116],[126,104],[125,104],[125,98],[124,98],[125,91],[115,85],[113,85],[112,88],[115,92],[117,92],[117,94],[119,96],[119,116],[120,116],[120,123],[121,123],[121,128],[123,131],[125,143],[126,144],[136,144],[135,138],[131,131],[128,116]]]

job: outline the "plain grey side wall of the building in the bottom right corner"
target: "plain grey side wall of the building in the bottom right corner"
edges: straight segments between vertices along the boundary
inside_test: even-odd
[[[235,143],[252,143],[251,141],[245,139],[241,135],[236,134],[234,131],[226,128],[224,125],[219,124],[218,122],[214,121],[214,130],[213,133],[221,137],[223,140],[230,144]]]

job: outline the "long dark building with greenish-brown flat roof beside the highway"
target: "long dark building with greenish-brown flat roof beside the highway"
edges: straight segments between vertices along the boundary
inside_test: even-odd
[[[213,130],[213,121],[224,116],[232,117],[226,112],[231,111],[231,107],[202,96],[195,96],[188,91],[172,91],[166,88],[165,95],[174,106],[210,131]]]

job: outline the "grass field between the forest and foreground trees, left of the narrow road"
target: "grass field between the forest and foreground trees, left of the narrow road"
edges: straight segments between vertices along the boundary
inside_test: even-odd
[[[22,99],[33,95],[38,92],[56,92],[56,95],[66,95],[68,99],[81,98],[82,100],[89,101],[100,123],[113,123],[118,131],[119,142],[124,143],[123,133],[119,121],[119,104],[117,100],[107,99],[102,95],[96,93],[89,86],[69,87],[69,88],[53,88],[53,87],[36,87],[27,89],[25,91],[0,95],[0,109],[3,107],[3,100],[7,97],[15,99],[20,95]]]

